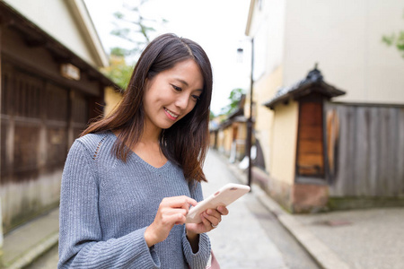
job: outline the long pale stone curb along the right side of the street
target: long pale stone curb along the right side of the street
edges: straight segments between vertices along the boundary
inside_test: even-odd
[[[221,155],[221,154],[219,154]],[[241,169],[226,161],[226,164],[233,176],[237,178],[242,184],[246,184],[247,180]],[[320,239],[316,238],[312,232],[304,228],[304,226],[296,221],[292,214],[287,213],[277,202],[270,198],[270,196],[253,183],[251,192],[255,195],[261,204],[263,204],[271,213],[273,213],[277,220],[288,230],[302,247],[309,253],[314,261],[323,269],[349,269],[349,265],[342,261],[338,255],[327,247]]]

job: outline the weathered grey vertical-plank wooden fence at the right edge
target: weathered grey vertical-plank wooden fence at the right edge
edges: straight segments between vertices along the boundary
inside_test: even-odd
[[[404,197],[404,106],[325,104],[330,197]]]

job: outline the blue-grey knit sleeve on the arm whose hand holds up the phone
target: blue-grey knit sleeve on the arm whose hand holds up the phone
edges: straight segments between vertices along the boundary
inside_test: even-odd
[[[203,200],[202,187],[200,183],[196,181],[190,183],[189,192],[191,197],[198,202]],[[199,234],[199,249],[197,253],[193,253],[184,227],[184,233],[182,235],[182,248],[190,268],[198,269],[206,267],[210,256],[210,240],[206,233]]]

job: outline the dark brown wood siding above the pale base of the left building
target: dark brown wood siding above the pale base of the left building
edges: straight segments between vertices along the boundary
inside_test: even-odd
[[[2,178],[20,181],[61,168],[67,152],[67,89],[5,65],[2,75]]]

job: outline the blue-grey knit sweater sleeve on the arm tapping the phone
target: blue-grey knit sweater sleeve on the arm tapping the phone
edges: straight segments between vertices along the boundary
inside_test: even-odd
[[[58,268],[160,268],[145,242],[146,227],[102,241],[94,166],[91,153],[75,141],[62,176]]]

